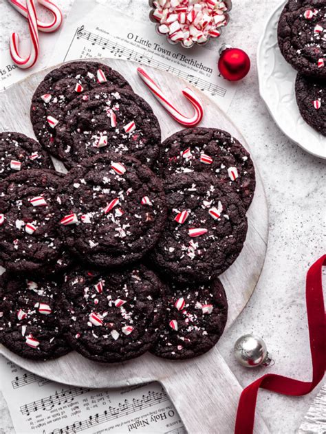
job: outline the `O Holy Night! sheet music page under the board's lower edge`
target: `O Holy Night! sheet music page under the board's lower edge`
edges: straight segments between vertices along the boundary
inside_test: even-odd
[[[186,434],[159,383],[119,390],[45,380],[0,356],[1,389],[18,433]]]

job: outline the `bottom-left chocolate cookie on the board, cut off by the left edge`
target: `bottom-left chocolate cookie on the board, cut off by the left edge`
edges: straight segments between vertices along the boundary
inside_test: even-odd
[[[70,347],[58,330],[61,283],[0,277],[0,343],[24,358],[47,360]]]

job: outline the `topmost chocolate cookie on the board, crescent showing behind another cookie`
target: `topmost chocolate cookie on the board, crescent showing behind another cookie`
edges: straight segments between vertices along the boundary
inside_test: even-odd
[[[94,87],[112,85],[132,91],[118,72],[99,62],[65,63],[47,74],[33,95],[30,109],[34,133],[41,145],[58,157],[53,140],[55,124],[61,122],[63,109]]]

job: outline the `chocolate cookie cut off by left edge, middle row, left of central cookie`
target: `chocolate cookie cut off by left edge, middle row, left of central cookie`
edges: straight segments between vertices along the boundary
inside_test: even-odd
[[[61,173],[30,169],[0,184],[0,261],[12,272],[47,273],[65,267],[54,207]]]

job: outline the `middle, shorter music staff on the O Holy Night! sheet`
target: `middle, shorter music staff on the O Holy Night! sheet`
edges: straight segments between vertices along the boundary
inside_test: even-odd
[[[30,415],[34,411],[39,410],[52,410],[55,405],[65,404],[72,402],[76,396],[83,395],[86,392],[90,392],[94,389],[83,389],[82,387],[76,387],[74,389],[62,389],[61,392],[55,391],[54,395],[47,396],[47,398],[41,398],[29,404],[22,405],[20,408],[21,414]]]

